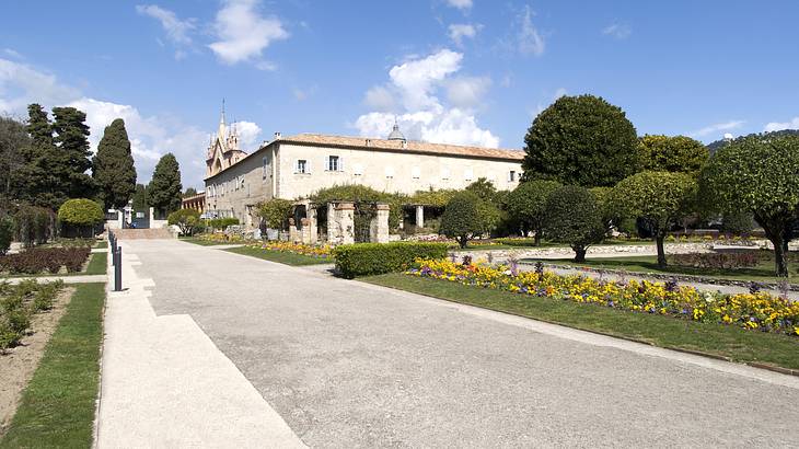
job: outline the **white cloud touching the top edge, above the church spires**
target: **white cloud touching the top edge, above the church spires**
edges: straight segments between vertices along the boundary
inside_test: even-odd
[[[252,61],[258,69],[274,70],[275,65],[260,60],[274,41],[286,39],[289,33],[276,16],[263,18],[257,0],[227,0],[217,12],[213,28],[219,41],[208,47],[228,65]]]

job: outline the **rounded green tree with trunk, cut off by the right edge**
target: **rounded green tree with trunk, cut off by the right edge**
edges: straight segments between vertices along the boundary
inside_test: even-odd
[[[799,209],[799,136],[736,139],[705,165],[699,184],[706,207],[754,215],[774,245],[776,275],[787,277],[786,253]]]

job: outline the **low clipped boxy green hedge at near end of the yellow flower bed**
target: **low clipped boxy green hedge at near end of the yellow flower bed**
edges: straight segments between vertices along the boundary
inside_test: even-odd
[[[357,276],[401,272],[416,258],[447,256],[447,243],[392,242],[356,243],[333,250],[336,269],[348,279]]]

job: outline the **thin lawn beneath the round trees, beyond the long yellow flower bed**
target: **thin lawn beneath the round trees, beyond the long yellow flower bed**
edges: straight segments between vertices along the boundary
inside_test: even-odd
[[[733,280],[757,280],[757,281],[778,281],[774,276],[774,258],[769,254],[764,255],[761,262],[751,268],[736,269],[717,269],[717,268],[695,268],[691,266],[669,265],[663,268],[657,264],[657,257],[653,255],[638,255],[625,257],[588,257],[583,263],[577,263],[572,258],[548,258],[541,262],[556,265],[587,266],[592,268],[618,269],[630,273],[659,273],[659,274],[680,274],[703,277],[715,277],[720,279]],[[537,262],[536,258],[525,258],[523,262]],[[799,275],[799,266],[797,264],[789,265],[791,277]]]

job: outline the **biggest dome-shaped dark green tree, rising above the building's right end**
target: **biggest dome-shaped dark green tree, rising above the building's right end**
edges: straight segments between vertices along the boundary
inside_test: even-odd
[[[561,96],[524,137],[525,180],[612,186],[638,171],[638,137],[624,112],[593,95]]]

